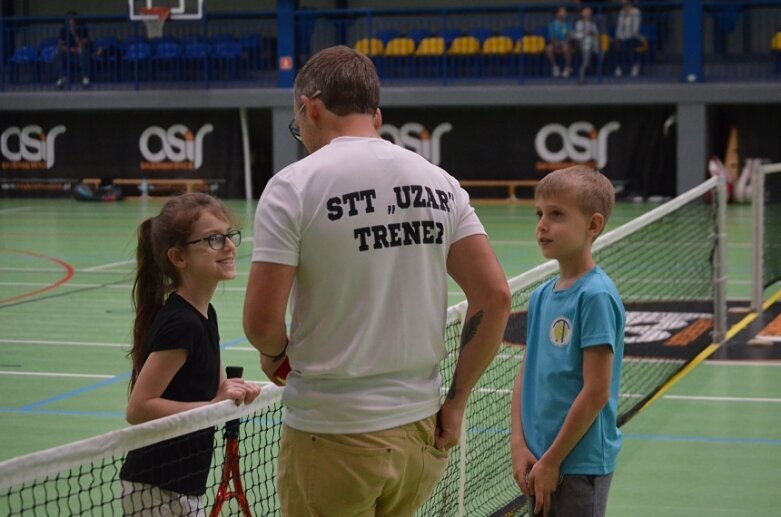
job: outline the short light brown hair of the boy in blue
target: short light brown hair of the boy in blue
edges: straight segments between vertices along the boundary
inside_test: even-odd
[[[600,213],[605,217],[605,223],[613,212],[616,189],[597,169],[575,165],[553,171],[540,180],[534,191],[535,197],[544,198],[566,194],[575,195],[581,212],[588,216]]]

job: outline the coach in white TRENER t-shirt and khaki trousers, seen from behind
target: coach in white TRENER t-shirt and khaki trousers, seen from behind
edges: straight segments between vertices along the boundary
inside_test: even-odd
[[[315,54],[296,77],[290,125],[310,155],[269,181],[255,215],[244,330],[269,378],[280,382],[286,356],[292,368],[283,515],[414,513],[507,322],[504,273],[469,196],[380,138],[379,96],[363,54]],[[469,308],[442,403],[448,274]]]

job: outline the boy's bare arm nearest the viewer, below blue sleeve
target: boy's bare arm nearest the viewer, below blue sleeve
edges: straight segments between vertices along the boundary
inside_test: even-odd
[[[530,490],[536,494],[535,513],[550,508],[550,496],[559,483],[559,468],[610,398],[613,350],[608,345],[583,350],[583,389],[580,390],[550,448],[529,473]]]

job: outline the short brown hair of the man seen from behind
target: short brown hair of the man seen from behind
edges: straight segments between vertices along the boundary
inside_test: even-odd
[[[371,59],[338,45],[309,58],[296,75],[293,93],[311,97],[320,90],[320,100],[338,116],[363,113],[373,115],[380,105],[380,79]]]

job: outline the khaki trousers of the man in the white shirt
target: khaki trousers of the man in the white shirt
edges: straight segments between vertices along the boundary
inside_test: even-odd
[[[361,434],[282,430],[278,493],[285,517],[412,515],[448,462],[436,415]]]

